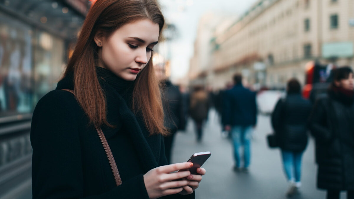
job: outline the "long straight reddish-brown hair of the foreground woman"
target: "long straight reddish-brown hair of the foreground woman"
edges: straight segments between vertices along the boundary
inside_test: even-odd
[[[164,17],[156,0],[97,0],[87,14],[64,76],[74,73],[76,99],[89,117],[90,125],[114,127],[107,121],[106,98],[97,79],[95,61],[98,53],[93,38],[98,30],[108,38],[122,25],[139,19],[159,24],[161,38]],[[151,58],[134,85],[133,112],[141,112],[150,135],[166,135],[160,90]]]

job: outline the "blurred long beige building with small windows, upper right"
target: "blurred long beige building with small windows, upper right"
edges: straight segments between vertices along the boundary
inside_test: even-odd
[[[210,49],[206,85],[222,88],[236,72],[256,88],[284,87],[292,77],[304,83],[309,61],[354,66],[354,1],[259,0],[227,29],[217,26],[207,48],[198,44],[202,34],[191,59],[190,67],[198,68],[189,74],[191,82],[191,74],[205,71],[193,60]]]

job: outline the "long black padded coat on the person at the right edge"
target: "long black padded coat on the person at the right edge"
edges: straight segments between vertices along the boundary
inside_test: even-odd
[[[310,129],[316,139],[317,186],[354,191],[354,104],[338,95],[316,101]]]

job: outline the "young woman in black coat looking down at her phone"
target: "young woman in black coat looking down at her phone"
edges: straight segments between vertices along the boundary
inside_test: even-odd
[[[166,165],[150,59],[163,25],[155,0],[92,6],[64,77],[33,113],[33,198],[195,198],[205,169],[171,174],[192,165]],[[119,186],[96,129],[112,151]]]

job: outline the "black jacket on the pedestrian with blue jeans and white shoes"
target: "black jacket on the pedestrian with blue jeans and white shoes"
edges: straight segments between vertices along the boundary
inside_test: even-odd
[[[293,93],[279,99],[272,113],[272,126],[276,140],[282,150],[302,152],[306,149],[307,120],[311,103],[300,93]]]

